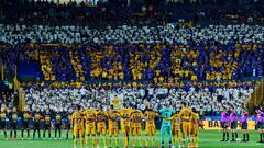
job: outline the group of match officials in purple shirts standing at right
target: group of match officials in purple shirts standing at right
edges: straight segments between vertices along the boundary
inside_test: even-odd
[[[231,141],[238,140],[238,124],[240,123],[241,129],[243,130],[243,140],[242,141],[249,141],[250,135],[249,135],[249,128],[248,128],[248,117],[249,113],[246,112],[246,109],[243,109],[243,113],[241,115],[241,119],[238,118],[238,113],[234,110],[234,106],[230,106],[230,110],[227,107],[223,107],[221,113],[221,127],[222,127],[222,140],[221,141],[228,141],[229,140],[229,130],[230,127],[232,133],[232,139]],[[262,109],[256,110],[256,129],[260,133],[260,141],[264,143],[264,112]]]

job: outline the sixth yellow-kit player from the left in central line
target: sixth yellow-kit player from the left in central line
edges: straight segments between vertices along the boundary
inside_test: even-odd
[[[143,113],[140,110],[135,110],[131,114],[131,134],[132,134],[132,147],[135,147],[135,136],[139,138],[140,148],[142,147],[141,140],[141,123],[143,118]]]

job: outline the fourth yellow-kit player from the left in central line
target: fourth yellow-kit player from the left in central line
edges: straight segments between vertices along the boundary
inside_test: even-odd
[[[116,147],[119,145],[119,129],[118,129],[118,116],[119,113],[114,110],[113,105],[108,111],[108,132],[109,132],[109,145],[112,146],[112,139],[116,140]]]

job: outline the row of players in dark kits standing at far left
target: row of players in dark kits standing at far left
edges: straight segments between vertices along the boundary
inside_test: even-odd
[[[52,138],[52,124],[54,123],[55,127],[55,139],[62,139],[62,128],[63,128],[63,118],[67,118],[66,126],[67,133],[66,138],[68,139],[69,130],[70,130],[70,117],[73,114],[73,110],[70,109],[68,112],[51,111],[47,109],[44,112],[41,112],[40,107],[36,107],[34,112],[31,112],[26,107],[24,111],[18,112],[16,107],[12,110],[7,107],[1,107],[0,111],[0,129],[3,130],[4,138],[8,139],[7,134],[7,123],[10,123],[10,139],[18,138],[18,126],[21,123],[21,136],[24,139],[24,132],[26,132],[26,138],[30,139],[30,123],[33,124],[33,139],[37,134],[38,138],[41,138],[41,122],[43,122],[43,139],[46,137],[46,133],[48,134],[48,138]],[[13,135],[14,134],[14,135]],[[57,137],[58,136],[58,137]]]

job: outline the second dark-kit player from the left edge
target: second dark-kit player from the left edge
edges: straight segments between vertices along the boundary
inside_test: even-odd
[[[19,114],[16,111],[16,107],[13,107],[13,110],[9,113],[9,121],[11,123],[10,139],[13,138],[13,132],[14,132],[14,139],[16,139],[18,118],[19,118]]]

